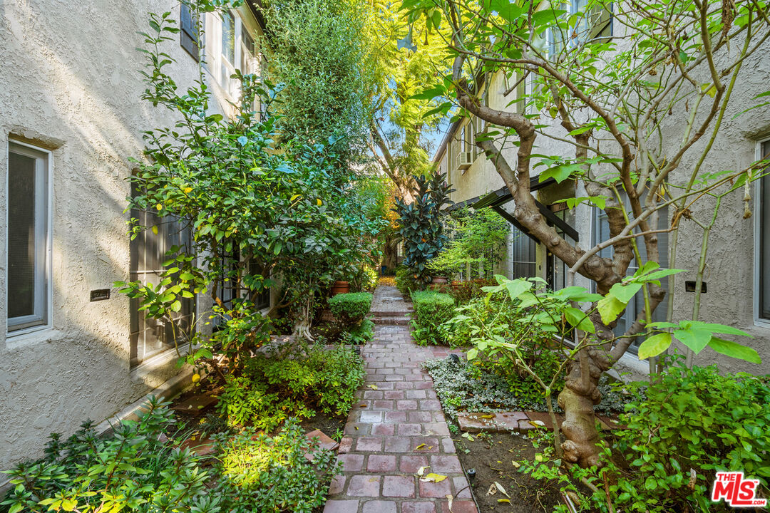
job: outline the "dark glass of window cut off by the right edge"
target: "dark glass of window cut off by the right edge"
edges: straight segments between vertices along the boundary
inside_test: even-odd
[[[770,158],[770,139],[758,145],[757,159]],[[756,218],[756,318],[770,321],[770,176],[759,179],[759,215]]]

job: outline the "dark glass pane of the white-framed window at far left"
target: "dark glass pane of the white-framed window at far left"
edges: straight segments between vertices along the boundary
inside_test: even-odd
[[[35,165],[8,155],[8,318],[35,314]]]

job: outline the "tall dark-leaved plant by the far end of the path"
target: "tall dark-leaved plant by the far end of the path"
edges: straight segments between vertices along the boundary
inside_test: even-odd
[[[454,189],[446,179],[447,175],[440,173],[418,176],[414,202],[396,201],[399,235],[403,239],[403,265],[417,275],[415,279],[422,284],[430,282],[427,262],[438,255],[447,240],[441,223],[442,208],[453,203],[449,195]]]

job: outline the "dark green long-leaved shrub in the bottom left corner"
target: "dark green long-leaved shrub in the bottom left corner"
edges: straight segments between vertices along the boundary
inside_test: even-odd
[[[99,438],[86,421],[62,441],[51,435],[45,458],[8,471],[15,488],[2,505],[17,511],[216,511],[201,457],[160,438],[172,411],[152,398],[139,421],[121,421]]]

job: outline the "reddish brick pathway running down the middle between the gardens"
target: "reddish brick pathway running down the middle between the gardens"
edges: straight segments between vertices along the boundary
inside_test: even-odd
[[[408,310],[395,288],[375,291],[377,318]],[[324,513],[449,513],[447,495],[452,513],[477,513],[433,381],[420,368],[449,352],[415,345],[406,325],[377,324],[361,351],[367,381],[348,417],[338,456],[343,475],[332,481]],[[447,479],[419,481],[423,466]]]

